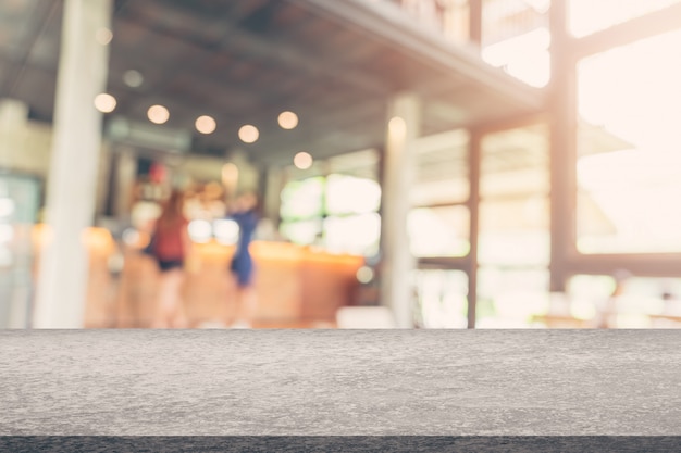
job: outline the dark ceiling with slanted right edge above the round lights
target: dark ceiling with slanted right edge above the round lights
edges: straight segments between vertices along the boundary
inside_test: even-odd
[[[25,101],[51,122],[59,62],[61,0],[0,2],[0,98]],[[423,98],[422,133],[496,122],[543,105],[543,91],[487,66],[469,48],[448,43],[391,1],[116,0],[108,92],[119,115],[193,136],[191,152],[284,165],[298,151],[326,158],[381,147],[386,105],[400,91]],[[124,74],[138,71],[132,88]],[[290,110],[299,125],[284,130]],[[194,129],[211,115],[211,135]],[[109,119],[109,116],[108,116]],[[260,139],[237,130],[256,125]]]

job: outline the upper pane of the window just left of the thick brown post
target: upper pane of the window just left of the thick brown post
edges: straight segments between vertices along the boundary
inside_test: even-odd
[[[505,130],[483,139],[481,265],[548,265],[548,190],[545,125]]]

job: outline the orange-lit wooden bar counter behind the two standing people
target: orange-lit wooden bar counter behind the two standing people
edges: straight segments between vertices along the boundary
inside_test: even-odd
[[[284,243],[251,244],[258,298],[257,320],[294,323],[333,322],[339,306],[351,303],[361,256],[333,255]],[[234,247],[218,242],[195,244],[186,263],[183,299],[191,326],[225,322],[234,298],[228,272]],[[146,327],[156,303],[158,269],[137,250],[125,252],[120,281],[120,327]]]

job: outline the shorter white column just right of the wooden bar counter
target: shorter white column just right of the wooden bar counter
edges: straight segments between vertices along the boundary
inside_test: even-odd
[[[399,328],[413,327],[412,270],[407,215],[414,173],[414,140],[420,135],[421,103],[412,93],[388,106],[382,199],[381,303],[391,307]]]

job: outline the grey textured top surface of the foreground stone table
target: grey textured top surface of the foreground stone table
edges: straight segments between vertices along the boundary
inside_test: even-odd
[[[1,436],[679,436],[681,330],[2,330]]]

